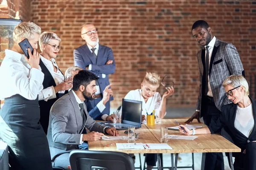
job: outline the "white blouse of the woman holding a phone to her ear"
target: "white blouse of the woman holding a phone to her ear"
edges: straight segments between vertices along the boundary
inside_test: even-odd
[[[25,55],[5,50],[6,56],[0,67],[0,98],[20,94],[26,99],[35,100],[43,90],[44,73],[31,68]]]

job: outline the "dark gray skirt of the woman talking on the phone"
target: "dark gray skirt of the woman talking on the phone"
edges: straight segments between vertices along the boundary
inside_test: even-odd
[[[38,98],[16,94],[0,109],[0,138],[9,145],[12,170],[52,170],[47,137],[39,122]]]

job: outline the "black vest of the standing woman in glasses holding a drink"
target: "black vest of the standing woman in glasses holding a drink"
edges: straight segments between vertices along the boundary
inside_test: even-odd
[[[55,87],[56,83],[52,77],[52,74],[50,71],[47,69],[47,67],[44,65],[42,60],[40,59],[39,65],[42,69],[42,72],[44,73],[44,82],[43,86],[44,89],[48,87]],[[61,72],[62,74],[62,72]],[[67,94],[68,91],[65,91],[65,94]],[[56,98],[55,99],[49,99],[46,101],[44,100],[39,100],[39,107],[40,107],[40,123],[44,129],[45,134],[47,134],[48,130],[48,125],[49,125],[49,115],[50,115],[50,110],[52,105],[60,98],[59,94],[56,93]]]

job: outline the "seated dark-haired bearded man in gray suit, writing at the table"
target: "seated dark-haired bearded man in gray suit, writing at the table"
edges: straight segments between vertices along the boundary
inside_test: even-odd
[[[104,133],[119,136],[114,127],[100,125],[87,112],[84,100],[94,99],[97,79],[90,71],[79,71],[73,78],[72,90],[52,105],[47,139],[53,167],[69,170],[69,154],[83,141],[98,141]],[[90,133],[82,134],[84,127]]]

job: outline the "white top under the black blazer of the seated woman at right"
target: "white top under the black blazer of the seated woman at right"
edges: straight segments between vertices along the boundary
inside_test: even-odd
[[[239,106],[237,106],[235,127],[237,130],[243,133],[244,136],[246,136],[247,138],[249,137],[254,127],[252,104],[250,104],[246,108],[240,108]]]

